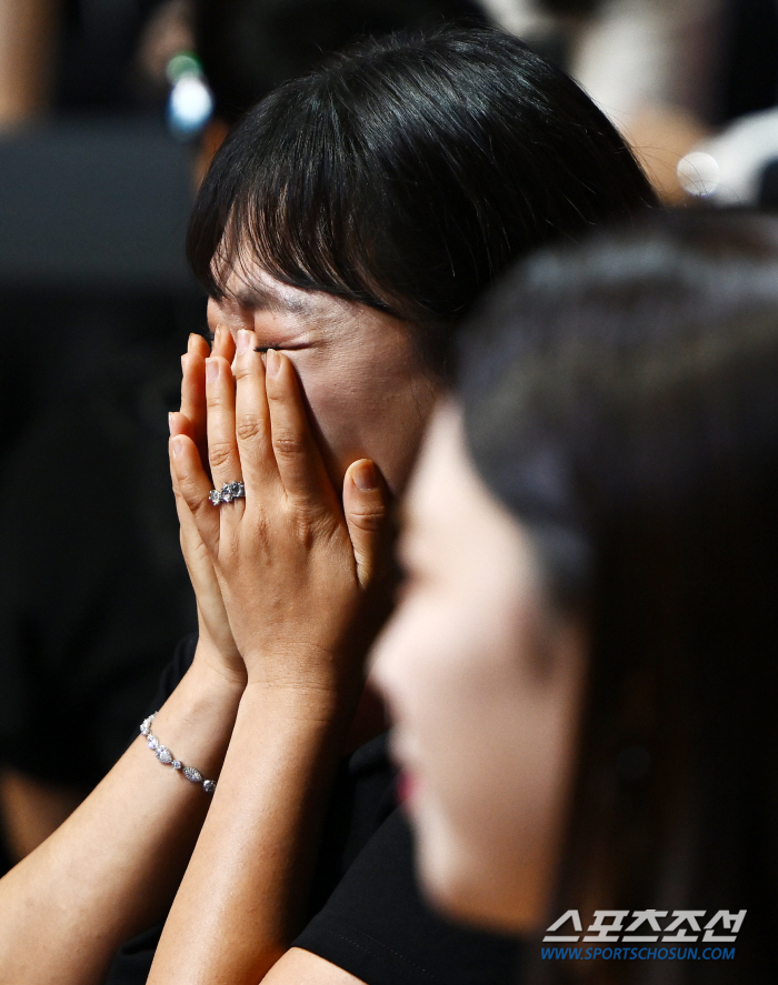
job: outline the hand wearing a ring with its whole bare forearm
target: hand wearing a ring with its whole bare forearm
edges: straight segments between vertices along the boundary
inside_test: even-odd
[[[291,363],[269,354],[278,369],[269,366],[266,379],[247,334],[236,360],[237,396],[229,365],[219,361],[208,408],[215,485],[241,476],[246,500],[201,505],[209,483],[193,442],[173,459],[215,557],[248,685],[150,985],[256,985],[286,959],[361,690],[360,649],[347,636],[373,574],[382,489],[377,481],[358,489],[360,466],[352,465],[341,505]]]

